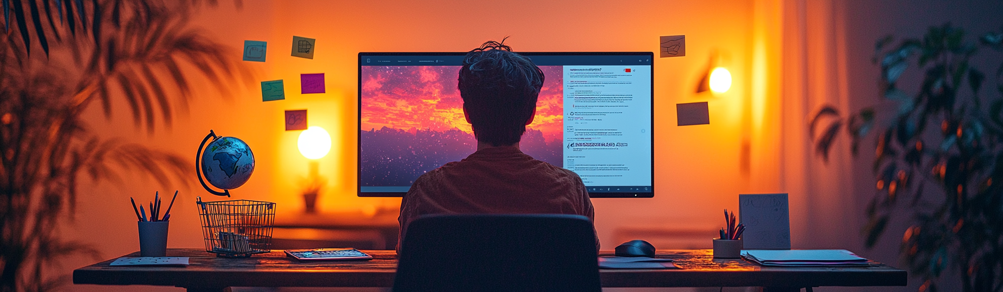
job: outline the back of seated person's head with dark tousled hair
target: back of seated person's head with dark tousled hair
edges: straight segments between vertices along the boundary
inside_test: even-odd
[[[501,39],[466,53],[456,87],[473,125],[473,135],[478,141],[497,147],[520,141],[543,85],[540,67],[513,52]]]

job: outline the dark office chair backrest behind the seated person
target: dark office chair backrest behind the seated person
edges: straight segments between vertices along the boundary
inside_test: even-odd
[[[601,291],[576,215],[435,215],[407,227],[393,291]]]

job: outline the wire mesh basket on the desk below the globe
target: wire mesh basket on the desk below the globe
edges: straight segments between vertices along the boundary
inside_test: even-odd
[[[271,252],[275,203],[235,200],[202,202],[202,234],[206,251],[218,257],[250,257]]]

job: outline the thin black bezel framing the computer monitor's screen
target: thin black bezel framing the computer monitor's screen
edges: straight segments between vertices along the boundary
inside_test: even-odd
[[[589,198],[654,198],[655,197],[655,61],[654,52],[518,52],[526,56],[540,55],[639,55],[648,56],[651,62],[651,192],[614,192],[589,193]],[[357,112],[355,124],[355,194],[358,197],[404,197],[406,192],[367,192],[362,193],[362,59],[365,56],[456,56],[466,55],[466,52],[360,52],[358,55],[358,83],[356,96]]]

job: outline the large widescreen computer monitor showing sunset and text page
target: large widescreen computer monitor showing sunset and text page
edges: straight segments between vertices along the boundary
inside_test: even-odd
[[[577,173],[592,198],[651,198],[651,52],[519,52],[546,76],[523,153]],[[462,52],[359,53],[360,197],[401,197],[477,148],[456,89]]]

